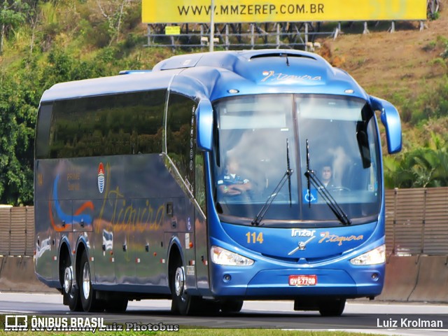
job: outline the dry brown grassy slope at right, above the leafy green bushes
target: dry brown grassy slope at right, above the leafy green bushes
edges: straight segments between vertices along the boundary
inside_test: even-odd
[[[387,25],[370,23],[370,34],[353,34],[361,22],[343,27],[345,34],[322,41],[318,53],[348,71],[367,92],[398,107],[407,150],[428,144],[430,132],[448,134],[448,105],[440,102],[448,99],[448,6],[437,20],[425,22],[423,31],[419,22],[397,22],[394,33]]]

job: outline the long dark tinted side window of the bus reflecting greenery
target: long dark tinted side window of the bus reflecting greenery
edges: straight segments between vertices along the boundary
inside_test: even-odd
[[[160,153],[165,90],[57,101],[50,158]]]

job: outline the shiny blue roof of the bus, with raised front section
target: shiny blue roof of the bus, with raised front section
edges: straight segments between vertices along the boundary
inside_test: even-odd
[[[78,80],[53,85],[41,102],[120,92],[163,89],[174,75],[192,78],[211,100],[238,94],[316,93],[348,94],[367,99],[351,76],[323,57],[300,50],[242,50],[200,52],[165,59],[152,71],[123,71],[120,76]]]

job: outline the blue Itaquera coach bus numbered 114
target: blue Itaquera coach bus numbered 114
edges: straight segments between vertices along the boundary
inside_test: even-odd
[[[293,300],[340,315],[384,284],[375,112],[400,151],[390,103],[297,50],[54,85],[36,127],[38,279],[72,311],[168,298],[177,314]]]

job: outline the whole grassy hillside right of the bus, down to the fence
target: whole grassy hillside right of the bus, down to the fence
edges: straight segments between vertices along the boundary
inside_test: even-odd
[[[397,22],[393,33],[388,25],[343,27],[318,52],[400,111],[403,150],[386,155],[386,186],[448,186],[448,1],[422,31],[419,22]]]

